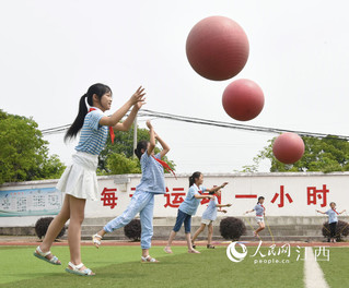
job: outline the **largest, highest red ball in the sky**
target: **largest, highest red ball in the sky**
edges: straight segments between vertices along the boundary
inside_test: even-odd
[[[249,52],[243,28],[233,20],[210,16],[198,22],[186,43],[193,69],[209,80],[228,80],[245,67]]]

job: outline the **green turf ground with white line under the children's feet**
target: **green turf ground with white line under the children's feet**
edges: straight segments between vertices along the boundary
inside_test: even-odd
[[[255,241],[233,250],[226,241],[214,250],[198,242],[201,254],[186,253],[184,241],[165,254],[164,243],[153,241],[151,249],[161,262],[143,264],[138,242],[104,241],[100,249],[83,242],[83,262],[96,276],[81,277],[65,272],[67,241],[53,247],[63,264],[55,266],[33,256],[35,238],[0,237],[0,287],[349,287],[349,242]]]

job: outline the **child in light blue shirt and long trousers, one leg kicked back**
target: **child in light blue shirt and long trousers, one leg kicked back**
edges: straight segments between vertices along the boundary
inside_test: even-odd
[[[141,262],[159,262],[149,255],[151,248],[151,238],[153,236],[153,209],[154,195],[164,194],[166,192],[164,169],[159,163],[165,156],[170,147],[168,145],[154,132],[150,121],[147,121],[150,133],[150,142],[141,141],[135,151],[137,157],[140,159],[142,178],[140,184],[136,188],[136,192],[131,197],[130,204],[126,211],[115,219],[107,223],[104,228],[95,233],[92,239],[96,248],[101,245],[101,240],[105,233],[112,232],[116,229],[129,224],[139,213],[141,221]],[[155,140],[162,146],[162,151],[154,155]]]

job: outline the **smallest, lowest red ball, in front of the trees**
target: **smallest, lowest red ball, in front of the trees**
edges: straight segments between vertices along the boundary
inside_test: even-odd
[[[280,163],[296,163],[304,154],[304,142],[298,134],[282,133],[275,140],[272,153]]]

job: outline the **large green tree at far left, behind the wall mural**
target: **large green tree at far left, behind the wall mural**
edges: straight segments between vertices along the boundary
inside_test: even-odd
[[[0,110],[0,183],[59,178],[65,166],[47,145],[32,118]]]

